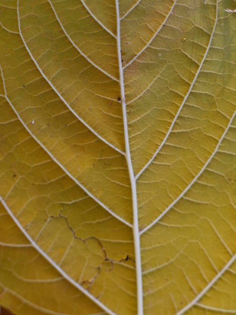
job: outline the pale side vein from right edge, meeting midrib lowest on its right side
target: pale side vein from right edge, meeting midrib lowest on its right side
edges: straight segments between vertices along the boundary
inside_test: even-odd
[[[197,176],[194,177],[194,179],[192,180],[192,182],[185,188],[185,190],[178,196],[178,198],[176,198],[166,209],[165,211],[162,212],[162,214],[156,218],[151,224],[149,224],[147,227],[145,227],[140,234],[143,234],[144,232],[146,232],[148,229],[150,229],[154,224],[156,224],[158,221],[160,221],[160,219],[184,196],[184,194],[190,189],[190,187],[197,181],[197,179],[200,177],[200,175],[203,173],[203,171],[206,169],[207,165],[211,162],[211,160],[213,159],[213,156],[216,154],[216,152],[218,151],[218,148],[222,142],[222,140],[224,139],[225,134],[227,133],[234,117],[235,117],[236,112],[234,112],[234,114],[232,115],[231,119],[229,120],[229,123],[226,127],[226,129],[224,130],[224,133],[222,134],[219,142],[217,143],[213,153],[211,154],[211,156],[209,157],[209,159],[207,160],[207,162],[204,164],[204,166],[202,167],[201,171],[197,174]]]

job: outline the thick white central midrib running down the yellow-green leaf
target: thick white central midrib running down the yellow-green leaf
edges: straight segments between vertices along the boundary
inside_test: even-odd
[[[135,263],[136,263],[136,284],[137,284],[137,315],[143,315],[143,283],[142,283],[142,267],[141,267],[141,249],[140,249],[140,233],[139,233],[139,219],[138,219],[138,202],[137,202],[137,190],[136,180],[134,176],[130,144],[129,144],[129,132],[126,113],[126,97],[124,86],[124,73],[122,67],[122,55],[121,55],[121,33],[120,33],[120,12],[119,12],[119,0],[115,0],[116,8],[116,25],[117,25],[117,55],[120,70],[120,86],[121,86],[121,99],[122,110],[124,120],[124,135],[126,144],[126,160],[131,180],[132,200],[133,200],[133,234],[134,234],[134,246],[135,246]]]

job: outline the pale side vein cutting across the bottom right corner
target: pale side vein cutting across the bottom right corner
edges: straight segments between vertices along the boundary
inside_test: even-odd
[[[208,285],[190,302],[188,303],[185,307],[183,307],[179,312],[177,312],[175,315],[181,315],[185,311],[187,311],[189,308],[192,306],[196,305],[197,301],[200,300],[204,294],[215,284],[216,281],[220,279],[220,277],[227,271],[227,269],[234,263],[236,259],[236,255],[234,255],[228,263],[224,266],[223,269],[208,283]]]

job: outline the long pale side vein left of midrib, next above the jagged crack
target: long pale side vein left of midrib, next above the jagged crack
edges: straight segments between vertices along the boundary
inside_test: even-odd
[[[48,155],[51,157],[51,159],[63,170],[63,172],[65,174],[67,174],[81,189],[83,189],[83,191],[85,191],[89,197],[91,197],[93,200],[95,200],[103,209],[105,209],[106,211],[108,211],[113,217],[115,217],[116,219],[120,220],[121,222],[123,222],[124,224],[132,227],[132,224],[127,222],[126,220],[124,220],[122,217],[120,217],[119,215],[115,214],[114,212],[112,212],[107,206],[105,206],[100,200],[98,200],[94,195],[92,195],[90,193],[89,190],[87,190],[87,188],[85,188],[80,182],[78,182],[76,180],[76,178],[74,178],[65,168],[64,166],[55,159],[55,157],[53,156],[53,154],[46,148],[46,146],[44,146],[39,140],[38,138],[31,132],[31,130],[27,127],[27,125],[24,123],[24,121],[22,120],[22,118],[20,117],[20,115],[18,114],[18,112],[16,111],[16,109],[14,108],[12,102],[10,101],[10,99],[8,98],[7,95],[7,91],[6,91],[6,86],[5,86],[5,81],[4,81],[4,74],[3,74],[3,70],[2,67],[0,65],[0,70],[3,76],[3,83],[4,83],[4,91],[5,91],[5,98],[7,99],[7,101],[9,102],[10,106],[12,107],[12,109],[14,110],[15,114],[17,115],[18,119],[20,120],[20,122],[22,123],[22,125],[26,128],[26,130],[29,132],[29,134],[35,139],[35,141],[37,141],[37,143],[48,153]]]

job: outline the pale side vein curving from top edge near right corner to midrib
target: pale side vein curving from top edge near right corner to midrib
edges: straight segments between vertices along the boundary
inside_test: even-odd
[[[184,104],[185,104],[187,98],[189,97],[189,95],[190,95],[190,93],[191,93],[191,91],[192,91],[192,88],[193,88],[193,86],[194,86],[194,84],[195,84],[195,82],[196,82],[196,80],[197,80],[198,74],[200,73],[200,70],[201,70],[201,67],[202,67],[202,65],[203,65],[203,62],[205,61],[205,58],[206,58],[206,56],[207,56],[208,50],[210,49],[210,44],[211,44],[211,41],[212,41],[212,38],[213,38],[213,35],[214,35],[214,31],[215,31],[215,27],[216,27],[216,23],[217,23],[217,11],[218,11],[218,2],[216,3],[215,24],[214,24],[214,27],[213,27],[213,30],[212,30],[212,33],[211,33],[211,36],[210,36],[210,40],[209,40],[209,43],[208,43],[208,47],[207,47],[207,49],[206,49],[205,55],[204,55],[204,57],[203,57],[203,59],[202,59],[200,65],[199,65],[199,68],[198,68],[197,73],[196,73],[196,75],[195,75],[195,77],[194,77],[194,79],[193,79],[193,82],[192,82],[191,86],[189,87],[189,90],[188,90],[188,92],[187,92],[185,98],[183,99],[183,102],[182,102],[182,104],[181,104],[181,106],[180,106],[180,108],[179,108],[177,114],[175,115],[175,118],[174,118],[174,120],[173,120],[173,122],[172,122],[172,124],[171,124],[171,126],[170,126],[170,129],[168,130],[168,132],[167,132],[167,134],[166,134],[164,140],[162,141],[162,143],[160,144],[160,146],[159,146],[159,148],[156,150],[156,152],[153,154],[153,156],[152,156],[152,158],[149,160],[149,162],[148,162],[148,163],[143,167],[143,169],[136,175],[136,180],[137,180],[138,177],[149,167],[149,165],[153,162],[153,160],[155,159],[155,157],[157,156],[157,154],[159,153],[159,151],[162,149],[163,145],[165,144],[167,138],[169,137],[169,135],[170,135],[170,133],[171,133],[173,127],[174,127],[174,124],[175,124],[175,122],[176,122],[176,120],[177,120],[177,118],[178,118],[178,116],[179,116],[179,114],[180,114],[180,112],[181,112],[181,110],[182,110],[182,108],[183,108],[183,106],[184,106]]]

